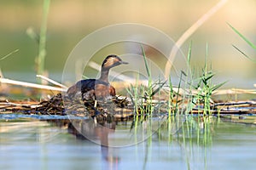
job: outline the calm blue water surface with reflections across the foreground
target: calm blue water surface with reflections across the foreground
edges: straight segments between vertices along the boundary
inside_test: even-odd
[[[95,170],[253,169],[255,166],[255,126],[223,122],[215,117],[206,120],[185,117],[176,133],[167,120],[151,137],[129,147],[108,147],[106,144],[111,144],[118,135],[123,139],[121,142],[127,140],[126,133],[121,135],[119,129],[130,129],[132,121],[94,125],[89,122],[90,125],[86,125],[85,120],[76,120],[74,124],[78,129],[64,119],[6,121],[0,122],[0,169],[20,169],[20,166],[52,169],[56,165],[57,169]],[[202,126],[199,122],[207,123]],[[112,129],[106,133],[100,126]],[[79,133],[81,129],[94,133],[98,144],[85,139]],[[135,140],[134,131],[130,133]]]

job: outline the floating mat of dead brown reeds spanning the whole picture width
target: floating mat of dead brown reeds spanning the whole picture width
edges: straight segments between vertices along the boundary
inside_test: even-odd
[[[154,110],[161,113],[168,113],[167,101],[155,101],[150,105],[154,105]],[[96,100],[83,97],[77,94],[73,98],[56,94],[49,100],[42,102],[10,102],[9,100],[0,101],[0,113],[22,113],[37,115],[59,115],[59,116],[79,116],[79,117],[96,117],[99,120],[106,120],[109,116],[118,119],[125,119],[137,114],[147,112],[148,105],[145,103],[135,111],[135,107],[131,99],[121,96],[113,96],[108,99]],[[240,101],[215,103],[211,106],[212,114],[221,115],[241,115],[256,114],[256,101]],[[201,114],[202,106],[197,105],[190,114]]]

